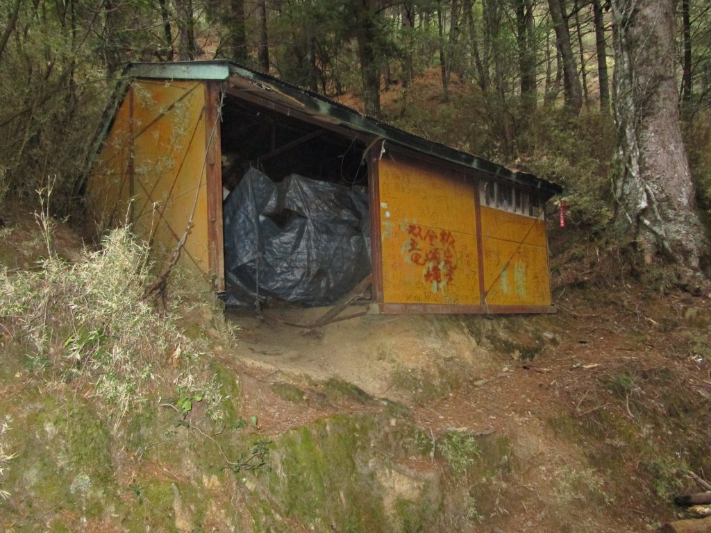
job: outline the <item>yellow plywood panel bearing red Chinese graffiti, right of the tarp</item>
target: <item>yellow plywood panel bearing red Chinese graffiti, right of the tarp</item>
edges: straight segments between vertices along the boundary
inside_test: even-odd
[[[378,176],[383,301],[479,304],[474,185],[385,159]]]

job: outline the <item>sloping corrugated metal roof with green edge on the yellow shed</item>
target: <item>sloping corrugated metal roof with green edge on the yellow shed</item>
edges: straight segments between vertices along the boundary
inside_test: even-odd
[[[385,139],[408,149],[444,159],[450,163],[474,168],[509,181],[540,189],[547,196],[559,194],[560,185],[543,180],[530,173],[515,172],[484,158],[467,154],[445,144],[429,141],[383,121],[361,114],[351,107],[334,102],[316,92],[297,87],[276,77],[230,63],[225,60],[178,61],[175,63],[132,63],[124,70],[127,77],[166,80],[228,80],[240,77],[261,90],[264,99],[275,99],[280,104],[291,104],[301,111],[334,120],[348,128]]]

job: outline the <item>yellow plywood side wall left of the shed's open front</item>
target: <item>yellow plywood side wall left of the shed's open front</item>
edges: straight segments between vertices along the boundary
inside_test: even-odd
[[[205,126],[204,108],[205,87],[201,82],[132,82],[95,166],[88,196],[97,212],[111,212],[114,205],[125,212],[127,199],[132,198],[134,230],[159,253],[176,247],[196,205],[181,263],[208,273],[203,163],[205,128],[212,125]],[[121,222],[115,217],[100,220]]]

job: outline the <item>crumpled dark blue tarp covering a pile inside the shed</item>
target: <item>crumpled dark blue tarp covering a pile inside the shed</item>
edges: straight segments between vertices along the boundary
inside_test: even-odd
[[[367,193],[250,168],[223,205],[228,306],[328,306],[370,273]]]

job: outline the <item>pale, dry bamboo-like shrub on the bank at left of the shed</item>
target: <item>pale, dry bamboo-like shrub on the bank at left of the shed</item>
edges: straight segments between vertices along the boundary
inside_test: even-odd
[[[161,383],[200,393],[219,416],[218,387],[196,366],[199,341],[142,297],[147,258],[146,245],[122,228],[74,264],[50,253],[37,271],[0,270],[0,320],[21,333],[31,369],[95,397],[117,423]]]

